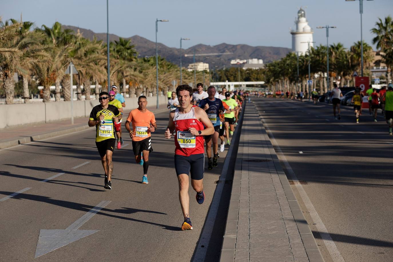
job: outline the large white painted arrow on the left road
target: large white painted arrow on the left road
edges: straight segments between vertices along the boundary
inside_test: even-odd
[[[102,201],[66,229],[41,229],[34,258],[98,232],[99,230],[78,230],[78,228],[109,203],[110,201]]]

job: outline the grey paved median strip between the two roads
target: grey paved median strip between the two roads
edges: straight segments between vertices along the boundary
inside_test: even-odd
[[[323,261],[261,118],[247,103],[220,261]]]

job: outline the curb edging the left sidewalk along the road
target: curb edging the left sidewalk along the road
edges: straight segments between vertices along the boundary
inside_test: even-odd
[[[158,113],[163,113],[165,111],[169,112],[169,109],[164,108],[164,109],[152,110],[151,112],[154,113],[154,114],[158,114]],[[57,137],[59,135],[72,134],[72,133],[83,131],[83,130],[86,130],[86,129],[89,129],[89,128],[90,127],[88,125],[80,125],[80,126],[77,126],[77,127],[72,127],[72,128],[68,128],[68,129],[64,129],[64,130],[43,133],[43,134],[35,135],[35,136],[32,136],[32,137],[24,137],[24,138],[15,139],[15,140],[9,140],[9,141],[6,141],[6,142],[1,142],[0,143],[0,149],[6,149],[6,148],[9,148],[11,146],[17,146],[17,145],[20,145],[20,144],[27,144],[27,143],[30,143],[30,142],[35,142],[35,141],[43,140],[43,139],[50,138],[50,137]]]

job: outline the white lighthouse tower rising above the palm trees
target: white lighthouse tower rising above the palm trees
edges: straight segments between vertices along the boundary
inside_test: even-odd
[[[306,19],[306,12],[303,9],[299,9],[298,18],[295,21],[296,30],[291,31],[292,35],[292,51],[300,52],[299,55],[305,55],[310,41],[310,47],[312,45],[312,34],[314,33],[309,26],[309,22]]]

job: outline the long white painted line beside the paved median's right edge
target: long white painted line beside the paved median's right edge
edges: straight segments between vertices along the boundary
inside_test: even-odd
[[[263,117],[262,117],[263,118]],[[269,127],[266,125],[266,122],[263,119],[263,124],[266,129],[266,132],[270,133],[271,135],[271,142],[274,144],[274,146],[277,148],[277,155],[279,156],[279,159],[283,161],[286,170],[288,171],[292,181],[294,181],[294,185],[296,186],[296,189],[298,190],[301,199],[303,200],[303,203],[306,205],[307,210],[310,213],[311,219],[314,221],[316,224],[316,228],[318,229],[318,232],[321,235],[321,238],[323,240],[323,243],[325,244],[327,250],[329,251],[330,256],[332,257],[332,260],[334,262],[339,262],[339,261],[344,261],[344,258],[341,256],[340,251],[338,251],[338,248],[334,241],[332,240],[332,237],[330,236],[329,232],[327,231],[325,225],[323,224],[320,216],[318,215],[318,212],[316,211],[315,207],[312,205],[309,197],[307,196],[307,193],[305,192],[303,186],[299,183],[298,177],[296,177],[295,172],[292,170],[289,162],[286,160],[286,157],[281,151],[281,148],[277,144],[277,141],[274,138],[274,135],[272,131],[270,131]]]

